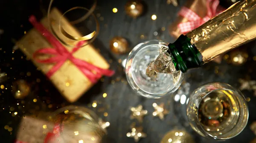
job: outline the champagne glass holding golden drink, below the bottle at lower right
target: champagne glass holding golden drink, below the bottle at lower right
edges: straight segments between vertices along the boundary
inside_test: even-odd
[[[203,137],[227,140],[243,131],[248,106],[242,93],[224,83],[209,83],[196,89],[187,104],[188,121]]]

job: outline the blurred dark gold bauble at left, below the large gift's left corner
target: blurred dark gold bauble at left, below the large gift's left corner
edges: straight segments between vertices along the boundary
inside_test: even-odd
[[[12,84],[12,93],[16,99],[23,99],[30,92],[30,85],[25,80],[18,80]]]

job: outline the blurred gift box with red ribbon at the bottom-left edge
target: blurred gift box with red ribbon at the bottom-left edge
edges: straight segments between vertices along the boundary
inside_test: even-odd
[[[100,140],[100,136],[89,132],[79,134],[72,128],[55,125],[47,119],[25,116],[20,122],[15,143],[99,143]]]

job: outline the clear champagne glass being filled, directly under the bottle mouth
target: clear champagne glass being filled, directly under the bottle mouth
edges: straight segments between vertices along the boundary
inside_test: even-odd
[[[128,83],[139,95],[146,98],[161,98],[175,92],[183,80],[183,73],[177,71],[172,74],[157,73],[148,77],[146,69],[151,61],[154,61],[161,48],[168,45],[159,40],[150,40],[136,45],[129,53],[125,73]]]

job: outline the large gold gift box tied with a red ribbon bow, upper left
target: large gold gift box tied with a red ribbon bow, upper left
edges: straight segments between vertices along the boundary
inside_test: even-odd
[[[81,37],[81,34],[65,17],[61,18],[61,16],[62,14],[57,8],[52,8],[50,13],[52,29],[57,29],[55,30],[56,35],[66,43],[74,42],[61,34],[59,30],[60,19],[61,24],[68,34],[77,37]],[[60,42],[49,32],[48,18],[44,17],[41,22],[37,23],[35,17],[30,17],[29,21],[35,28],[27,32],[26,35],[17,42],[17,46],[32,60],[36,67],[52,81],[67,101],[74,102],[78,100],[102,75],[106,75],[106,72],[108,76],[113,75],[113,71],[107,70],[110,65],[93,45],[85,45],[79,48],[79,50],[76,49],[77,51],[72,54],[70,54],[70,52],[74,50],[74,47],[62,45],[64,49],[61,50],[66,53],[59,54],[59,49],[55,47]],[[35,53],[38,54],[35,55]],[[42,55],[42,53],[44,54]],[[40,59],[37,60],[39,55]],[[66,58],[65,56],[69,56],[72,59]],[[61,58],[66,59],[63,60]],[[87,69],[87,67],[92,67],[94,70],[92,70],[92,68]]]

